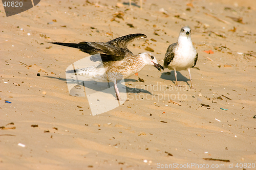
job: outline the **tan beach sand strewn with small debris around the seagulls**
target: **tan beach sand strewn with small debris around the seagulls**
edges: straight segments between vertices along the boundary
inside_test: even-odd
[[[256,2],[147,0],[142,10],[128,3],[46,0],[10,17],[1,6],[1,169],[255,167]],[[87,97],[69,94],[65,74],[90,55],[47,43],[143,33],[129,49],[150,47],[163,64],[183,26],[199,56],[196,89],[185,70],[176,87],[173,70],[146,66],[125,80],[130,101],[96,116]]]

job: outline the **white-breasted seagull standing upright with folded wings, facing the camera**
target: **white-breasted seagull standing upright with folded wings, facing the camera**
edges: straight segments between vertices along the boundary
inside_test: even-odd
[[[167,48],[163,67],[174,70],[176,86],[178,86],[176,70],[187,70],[191,82],[190,88],[194,88],[191,80],[190,68],[196,65],[198,53],[193,46],[190,34],[191,29],[188,26],[181,28],[178,41],[176,43],[170,44]]]

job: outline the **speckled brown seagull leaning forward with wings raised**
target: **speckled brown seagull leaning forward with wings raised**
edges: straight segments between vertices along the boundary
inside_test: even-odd
[[[134,75],[146,65],[152,65],[160,71],[163,69],[152,53],[134,55],[127,48],[130,42],[140,38],[146,38],[146,35],[129,34],[108,42],[49,43],[79,48],[82,52],[90,55],[100,54],[102,60],[100,64],[77,69],[76,74],[90,77],[97,82],[113,82],[117,100],[120,101],[121,98],[117,88],[118,80]]]

